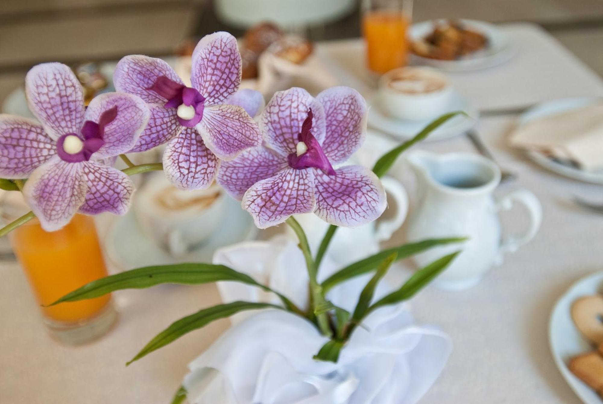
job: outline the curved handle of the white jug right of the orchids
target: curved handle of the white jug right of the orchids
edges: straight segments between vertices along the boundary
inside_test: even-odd
[[[532,192],[526,189],[518,189],[497,200],[496,210],[510,210],[516,202],[523,204],[528,209],[530,224],[528,230],[523,235],[508,236],[507,239],[500,242],[499,264],[502,262],[502,256],[505,253],[514,253],[519,247],[534,238],[542,222],[542,207],[540,206],[540,202]]]

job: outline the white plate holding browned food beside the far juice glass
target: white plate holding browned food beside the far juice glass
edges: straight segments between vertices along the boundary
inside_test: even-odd
[[[438,22],[444,19],[418,22],[412,24],[410,36],[413,41],[428,36]],[[473,52],[457,60],[437,60],[412,54],[412,59],[420,65],[434,66],[448,72],[469,72],[478,69],[490,68],[507,62],[515,53],[511,39],[496,25],[483,21],[459,20],[467,28],[473,28],[483,33],[488,38],[488,46],[481,51]]]

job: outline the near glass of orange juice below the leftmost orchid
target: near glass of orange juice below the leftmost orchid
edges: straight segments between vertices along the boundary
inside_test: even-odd
[[[21,195],[10,192],[2,203],[2,218],[11,221],[27,212],[24,208]],[[39,221],[33,219],[13,230],[10,242],[52,337],[78,345],[98,338],[111,328],[117,313],[110,295],[42,306],[107,276],[92,216],[75,215],[67,226],[56,232],[46,232]]]

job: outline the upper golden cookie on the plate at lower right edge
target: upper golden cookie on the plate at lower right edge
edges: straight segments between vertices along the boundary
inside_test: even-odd
[[[572,319],[582,336],[592,344],[603,342],[603,296],[584,296],[574,301]]]

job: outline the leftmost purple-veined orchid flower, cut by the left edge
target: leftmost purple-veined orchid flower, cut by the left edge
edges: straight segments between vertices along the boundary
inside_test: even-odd
[[[78,211],[127,212],[134,185],[110,165],[134,146],[147,124],[144,101],[104,93],[85,109],[80,82],[61,63],[31,69],[25,92],[41,124],[0,115],[0,176],[29,177],[23,194],[43,229],[60,229]]]

